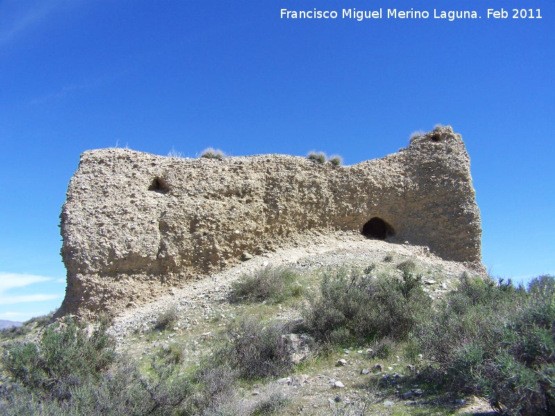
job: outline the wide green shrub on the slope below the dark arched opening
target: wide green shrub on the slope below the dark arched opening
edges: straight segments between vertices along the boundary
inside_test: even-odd
[[[412,281],[387,275],[372,279],[343,268],[325,272],[320,292],[308,300],[303,315],[314,338],[324,342],[404,339],[430,302]]]

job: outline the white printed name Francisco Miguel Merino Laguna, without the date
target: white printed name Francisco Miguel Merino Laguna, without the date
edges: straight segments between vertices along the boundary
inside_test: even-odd
[[[430,13],[427,10],[397,10],[387,9],[386,17],[388,19],[427,19]],[[343,9],[341,12],[342,19],[382,19],[384,12],[382,8],[379,10],[357,10]],[[474,10],[436,10],[434,9],[434,19],[477,19],[478,14]],[[339,13],[336,10],[280,10],[281,19],[337,19]]]

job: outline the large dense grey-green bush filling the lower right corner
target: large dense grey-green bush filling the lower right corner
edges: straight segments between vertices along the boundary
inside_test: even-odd
[[[414,341],[447,388],[479,395],[506,415],[555,409],[555,279],[528,290],[461,277]]]

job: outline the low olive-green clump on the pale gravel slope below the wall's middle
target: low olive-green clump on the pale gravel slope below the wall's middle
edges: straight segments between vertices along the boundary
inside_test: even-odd
[[[290,268],[266,267],[250,274],[242,275],[232,283],[232,302],[241,300],[270,300],[281,302],[290,296],[299,296],[302,286],[298,284],[299,275]]]

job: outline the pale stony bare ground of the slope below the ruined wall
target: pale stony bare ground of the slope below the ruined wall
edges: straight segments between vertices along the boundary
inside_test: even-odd
[[[477,275],[462,263],[443,261],[427,247],[368,240],[357,232],[313,234],[297,247],[255,256],[223,272],[189,281],[183,288],[173,288],[155,302],[126,309],[110,333],[117,338],[119,351],[139,363],[148,365],[153,356],[177,354],[185,366],[198,367],[219,349],[225,331],[237,320],[251,317],[268,325],[301,320],[307,299],[325,272],[348,268],[367,270],[370,278],[386,273],[401,279],[399,265],[407,262],[416,265],[423,290],[433,302],[456,290],[463,273]],[[302,295],[282,302],[232,302],[234,283],[265,268],[293,270],[300,276],[296,283]],[[287,406],[274,414],[432,415],[447,410],[472,415],[491,411],[483,400],[438,395],[428,383],[419,385],[422,381],[418,381],[416,367],[408,363],[404,347],[393,346],[386,356],[373,355],[373,349],[368,349],[373,345],[336,347],[318,358],[322,352],[314,345],[303,345],[303,336],[287,337],[296,367],[277,382],[245,385],[230,397],[234,404],[228,406],[238,407],[229,411],[241,414],[271,395],[287,398]],[[363,405],[366,410],[361,410]]]

